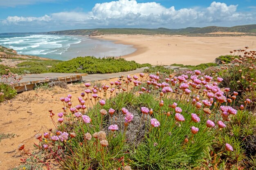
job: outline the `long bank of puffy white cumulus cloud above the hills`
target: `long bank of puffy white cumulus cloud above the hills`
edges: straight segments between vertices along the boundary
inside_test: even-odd
[[[28,0],[29,1],[29,0]],[[245,24],[255,22],[256,13],[237,12],[238,5],[212,2],[204,9],[166,8],[156,2],[138,3],[118,0],[98,3],[90,12],[59,12],[42,17],[9,16],[2,24],[45,25],[52,29],[95,27],[160,27],[207,26],[209,24]],[[240,21],[243,21],[240,22]],[[65,25],[65,26],[64,26]],[[62,27],[60,27],[62,26]]]

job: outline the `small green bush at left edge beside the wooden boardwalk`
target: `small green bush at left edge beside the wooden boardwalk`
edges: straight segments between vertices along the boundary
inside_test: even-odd
[[[0,102],[12,99],[17,95],[17,91],[8,84],[0,83]]]

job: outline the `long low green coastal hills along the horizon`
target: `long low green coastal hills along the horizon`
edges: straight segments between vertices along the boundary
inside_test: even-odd
[[[50,31],[41,33],[0,33],[0,35],[21,35],[21,34],[47,34],[47,35],[104,35],[104,34],[165,34],[165,35],[198,35],[198,34],[209,34],[222,32],[241,33],[247,35],[256,34],[256,24],[241,25],[232,27],[221,27],[221,26],[207,26],[207,27],[187,27],[184,29],[131,29],[131,28],[108,28],[108,29],[75,29],[65,31]]]

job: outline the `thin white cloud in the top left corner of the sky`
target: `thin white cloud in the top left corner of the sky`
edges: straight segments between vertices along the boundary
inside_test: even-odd
[[[0,0],[0,7],[17,7],[20,5],[37,4],[40,2],[56,2],[57,0]]]

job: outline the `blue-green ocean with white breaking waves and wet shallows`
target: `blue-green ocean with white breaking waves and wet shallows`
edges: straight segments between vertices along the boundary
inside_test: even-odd
[[[79,56],[119,57],[136,51],[130,45],[72,35],[0,35],[0,45],[16,50],[18,54],[55,60]]]

